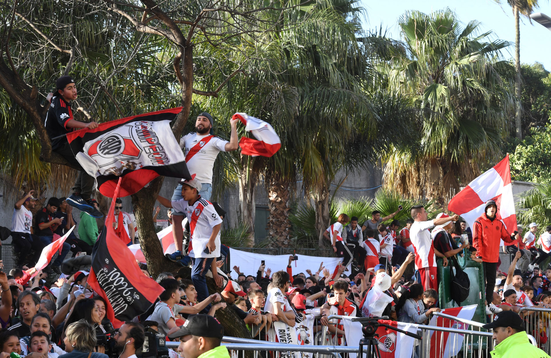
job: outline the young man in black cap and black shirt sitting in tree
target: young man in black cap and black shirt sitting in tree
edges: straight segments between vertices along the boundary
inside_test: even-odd
[[[64,136],[74,129],[94,129],[98,127],[96,122],[84,123],[73,119],[71,101],[75,99],[77,99],[77,86],[73,78],[69,76],[61,76],[58,78],[56,81],[56,93],[53,94],[50,101],[50,108],[46,115],[44,127],[52,143],[52,152],[61,154],[67,162],[80,170],[73,186],[73,195],[67,198],[67,203],[80,211],[89,213],[93,217],[102,217],[103,215],[101,212],[90,204],[90,196],[94,189],[95,178],[90,177],[90,175],[83,170],[82,166],[74,157],[67,138]]]

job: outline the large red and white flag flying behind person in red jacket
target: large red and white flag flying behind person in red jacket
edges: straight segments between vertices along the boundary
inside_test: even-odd
[[[474,179],[450,200],[448,210],[461,215],[472,228],[474,221],[484,213],[485,202],[493,199],[498,205],[496,216],[503,221],[507,231],[517,229],[515,201],[511,186],[509,154],[503,161]]]

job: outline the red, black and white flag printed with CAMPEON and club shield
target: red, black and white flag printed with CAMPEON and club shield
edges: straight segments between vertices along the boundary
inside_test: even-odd
[[[67,134],[71,149],[84,170],[98,180],[101,194],[119,197],[136,193],[150,181],[165,177],[191,179],[185,156],[170,129],[182,108],[144,113]]]

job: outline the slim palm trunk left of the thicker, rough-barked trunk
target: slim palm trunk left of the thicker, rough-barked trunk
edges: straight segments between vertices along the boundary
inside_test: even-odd
[[[239,199],[241,201],[241,220],[249,227],[247,230],[246,247],[255,245],[255,186],[258,175],[252,170],[254,158],[243,156],[246,163],[241,167],[239,175]]]

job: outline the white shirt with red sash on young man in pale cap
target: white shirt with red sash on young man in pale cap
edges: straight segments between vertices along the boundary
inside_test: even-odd
[[[214,206],[209,201],[199,197],[199,199],[189,205],[186,200],[180,199],[172,201],[172,207],[179,212],[183,212],[190,222],[190,246],[188,254],[192,258],[211,258],[220,256],[220,231],[214,239],[216,248],[214,252],[207,254],[204,250],[212,234],[212,228],[222,223]]]

